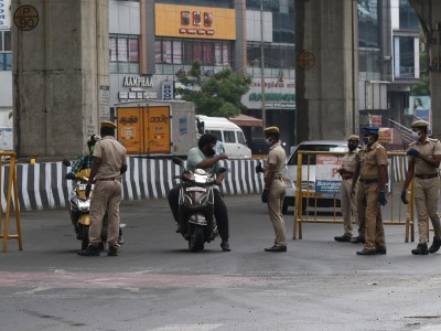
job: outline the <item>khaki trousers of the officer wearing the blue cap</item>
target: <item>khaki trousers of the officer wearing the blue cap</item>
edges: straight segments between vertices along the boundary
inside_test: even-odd
[[[369,250],[386,247],[378,193],[378,183],[366,185],[358,182],[358,236],[365,239],[365,248]],[[366,207],[363,205],[364,195],[366,195]]]

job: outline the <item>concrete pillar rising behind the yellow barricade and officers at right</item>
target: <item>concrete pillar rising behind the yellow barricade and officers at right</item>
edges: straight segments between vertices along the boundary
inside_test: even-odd
[[[295,2],[297,142],[358,131],[357,1]]]

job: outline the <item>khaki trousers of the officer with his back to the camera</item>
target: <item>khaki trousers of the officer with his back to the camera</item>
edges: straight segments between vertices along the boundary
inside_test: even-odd
[[[119,204],[121,202],[122,185],[119,180],[97,180],[90,201],[89,243],[98,245],[101,242],[103,217],[108,214],[107,243],[118,247],[119,235]]]

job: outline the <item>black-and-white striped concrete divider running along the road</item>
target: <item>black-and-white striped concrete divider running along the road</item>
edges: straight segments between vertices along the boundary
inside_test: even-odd
[[[256,174],[260,160],[226,160],[228,169],[223,184],[224,194],[260,193],[262,174]],[[2,167],[1,175],[8,178],[9,166]],[[72,181],[65,180],[67,168],[62,162],[17,164],[20,211],[39,211],[67,206]],[[181,170],[171,160],[128,158],[128,171],[123,175],[123,200],[163,199],[179,180]],[[6,207],[7,188],[2,188],[2,207]]]

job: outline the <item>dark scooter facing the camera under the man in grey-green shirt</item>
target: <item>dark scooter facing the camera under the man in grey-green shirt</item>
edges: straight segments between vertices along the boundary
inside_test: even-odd
[[[215,175],[203,169],[194,172],[185,169],[184,161],[173,158],[173,163],[183,169],[179,196],[180,228],[183,237],[189,242],[189,250],[204,249],[204,244],[209,243],[218,235],[214,217],[214,184]],[[222,168],[220,171],[226,171]]]

